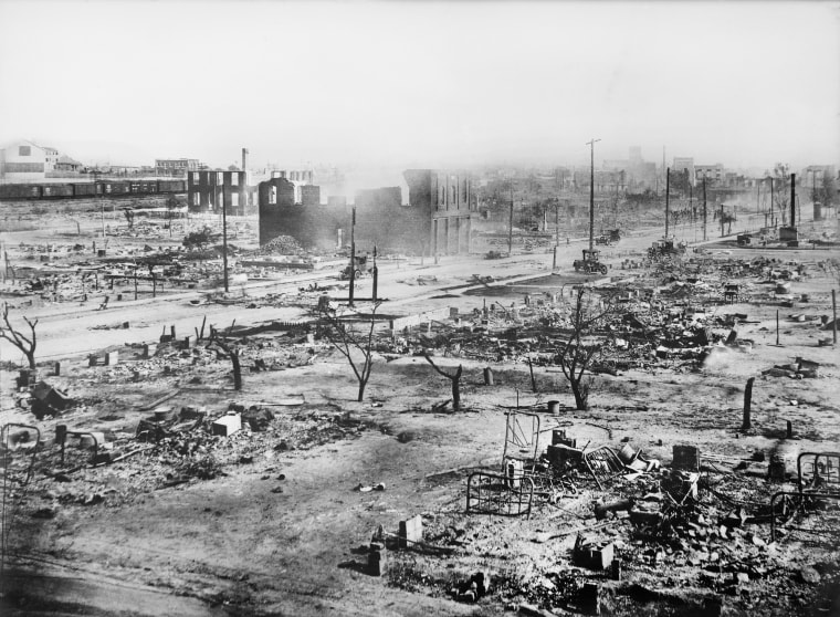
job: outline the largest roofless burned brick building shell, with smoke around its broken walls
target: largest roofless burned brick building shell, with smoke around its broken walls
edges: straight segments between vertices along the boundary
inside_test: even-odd
[[[356,192],[357,247],[372,250],[377,245],[380,251],[414,254],[468,252],[472,199],[469,179],[428,169],[405,175],[409,185],[408,205],[402,203],[400,187]],[[279,187],[280,184],[283,186]],[[294,203],[288,187],[293,185],[284,178],[260,185],[261,244],[277,236],[292,236],[306,248],[324,250],[349,244],[353,206],[334,198],[326,206],[311,200]],[[272,189],[285,198],[272,197]]]

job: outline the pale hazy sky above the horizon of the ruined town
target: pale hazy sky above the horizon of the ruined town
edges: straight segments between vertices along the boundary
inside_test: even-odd
[[[84,161],[840,164],[838,2],[0,0],[0,144]]]

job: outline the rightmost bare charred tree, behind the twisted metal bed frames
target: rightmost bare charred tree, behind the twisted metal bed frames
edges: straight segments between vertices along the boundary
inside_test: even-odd
[[[571,393],[575,395],[575,407],[581,410],[589,408],[591,387],[591,380],[585,380],[584,374],[600,355],[603,346],[602,343],[587,341],[586,337],[602,326],[615,311],[611,300],[607,300],[603,307],[599,307],[599,304],[601,301],[592,294],[585,301],[584,290],[580,290],[573,307],[571,335],[557,356],[563,374],[569,380]]]

